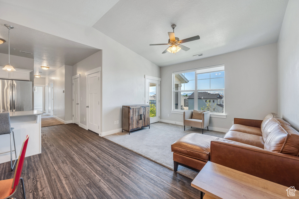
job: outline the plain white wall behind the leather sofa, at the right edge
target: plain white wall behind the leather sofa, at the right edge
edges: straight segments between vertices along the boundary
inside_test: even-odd
[[[278,114],[299,129],[299,1],[289,0],[278,38]]]

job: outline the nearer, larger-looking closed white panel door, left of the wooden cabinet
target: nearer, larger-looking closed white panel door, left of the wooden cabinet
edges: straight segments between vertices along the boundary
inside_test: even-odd
[[[100,133],[100,72],[87,75],[87,127]]]

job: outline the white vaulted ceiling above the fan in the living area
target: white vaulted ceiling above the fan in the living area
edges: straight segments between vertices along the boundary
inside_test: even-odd
[[[158,66],[276,43],[288,0],[120,0],[94,28]],[[161,54],[171,25],[176,37],[196,35],[184,43],[191,48],[177,54]]]

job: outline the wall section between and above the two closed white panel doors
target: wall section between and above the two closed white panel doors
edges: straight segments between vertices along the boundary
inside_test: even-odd
[[[73,66],[73,76],[80,74],[80,123],[86,125],[86,75],[85,72],[102,66],[102,51],[87,57]],[[82,100],[81,100],[82,98]]]

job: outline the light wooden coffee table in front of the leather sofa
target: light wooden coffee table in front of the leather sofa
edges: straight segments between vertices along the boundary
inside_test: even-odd
[[[204,199],[269,199],[288,197],[288,187],[213,162],[207,162],[191,186],[205,193]]]

